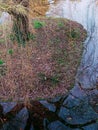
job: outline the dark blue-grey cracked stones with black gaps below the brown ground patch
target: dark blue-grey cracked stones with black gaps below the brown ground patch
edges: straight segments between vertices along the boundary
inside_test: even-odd
[[[98,97],[0,103],[0,130],[98,130]]]

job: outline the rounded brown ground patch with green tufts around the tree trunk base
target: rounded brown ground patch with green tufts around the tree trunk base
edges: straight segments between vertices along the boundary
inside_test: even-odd
[[[86,31],[65,19],[38,18],[30,41],[18,45],[0,33],[0,100],[40,99],[63,95],[73,87]],[[9,39],[10,38],[10,39]]]

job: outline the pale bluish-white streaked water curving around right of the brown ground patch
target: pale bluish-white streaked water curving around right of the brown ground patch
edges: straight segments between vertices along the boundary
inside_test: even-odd
[[[98,1],[97,0],[59,0],[51,5],[47,16],[63,17],[84,26],[88,37],[84,43],[84,53],[76,76],[76,86],[98,93]],[[75,88],[74,88],[75,89]],[[73,89],[73,90],[74,90]]]

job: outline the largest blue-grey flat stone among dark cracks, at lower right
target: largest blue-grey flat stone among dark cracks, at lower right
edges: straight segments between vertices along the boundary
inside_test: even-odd
[[[78,105],[75,99],[72,101],[69,100],[69,102],[70,103],[67,104],[68,108],[61,107],[59,113],[59,116],[67,123],[79,125],[98,119],[98,114],[93,110],[87,101],[83,100],[80,103],[78,102]],[[73,105],[74,107],[70,108],[71,104],[75,104],[74,102],[76,102],[76,105]]]

